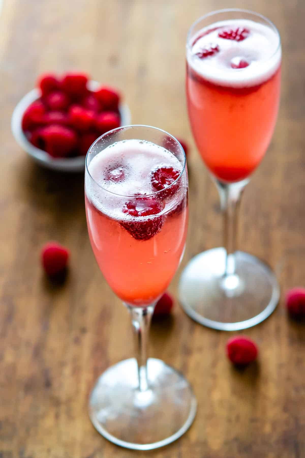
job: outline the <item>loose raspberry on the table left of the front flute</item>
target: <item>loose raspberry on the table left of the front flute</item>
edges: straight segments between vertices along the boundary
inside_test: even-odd
[[[45,272],[50,277],[63,272],[67,266],[69,255],[69,250],[59,243],[46,243],[41,250],[41,261]]]

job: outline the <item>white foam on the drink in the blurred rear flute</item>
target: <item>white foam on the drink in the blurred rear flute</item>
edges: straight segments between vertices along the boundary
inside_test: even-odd
[[[221,30],[236,29],[237,27],[246,28],[250,31],[244,40],[235,41],[218,36]],[[198,38],[204,32],[214,28],[216,30]],[[200,59],[196,53],[211,44],[218,45],[219,52],[213,56]],[[241,69],[232,68],[231,62],[235,63],[240,59],[246,60],[250,65]],[[187,48],[187,61],[200,76],[220,86],[255,86],[273,76],[280,65],[279,37],[271,27],[248,19],[214,22],[214,24],[201,29],[190,39]]]

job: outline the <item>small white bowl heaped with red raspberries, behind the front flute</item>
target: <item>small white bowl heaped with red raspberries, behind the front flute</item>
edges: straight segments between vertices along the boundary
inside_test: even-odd
[[[91,144],[128,124],[130,112],[120,93],[80,72],[41,75],[11,119],[17,143],[38,164],[63,172],[84,170]]]

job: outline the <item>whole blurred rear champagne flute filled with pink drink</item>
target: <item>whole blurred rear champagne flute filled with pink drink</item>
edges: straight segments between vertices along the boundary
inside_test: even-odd
[[[182,273],[185,311],[208,327],[233,331],[272,313],[277,280],[256,257],[236,251],[237,211],[261,162],[278,113],[281,45],[265,17],[237,9],[201,17],[187,36],[187,105],[199,153],[217,186],[224,248],[195,256]]]

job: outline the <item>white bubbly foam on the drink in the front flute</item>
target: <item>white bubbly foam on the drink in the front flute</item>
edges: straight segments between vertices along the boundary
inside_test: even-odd
[[[162,166],[182,170],[176,156],[155,143],[142,140],[113,143],[91,160],[88,169],[96,183],[86,176],[86,194],[103,213],[112,218],[130,219],[122,212],[124,203],[130,200],[125,196],[154,193],[156,190],[151,185],[151,172]],[[118,173],[123,170],[123,180],[107,179],[107,174],[113,170],[118,170]],[[167,207],[162,213],[166,211]]]

